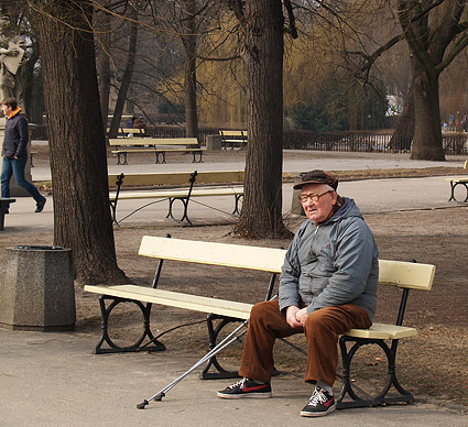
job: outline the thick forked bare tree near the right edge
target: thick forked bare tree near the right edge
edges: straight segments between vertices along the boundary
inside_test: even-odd
[[[438,78],[468,45],[464,0],[399,0],[398,15],[412,56],[414,141],[411,158],[445,160]]]

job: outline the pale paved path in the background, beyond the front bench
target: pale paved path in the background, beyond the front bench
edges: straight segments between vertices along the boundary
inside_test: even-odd
[[[461,160],[450,160],[447,162],[424,162],[411,161],[406,155],[382,155],[357,153],[356,156],[346,153],[315,153],[317,158],[286,160],[284,172],[296,173],[312,168],[325,168],[331,171],[358,171],[358,169],[392,169],[392,168],[422,168],[436,166],[461,167]],[[39,163],[39,162],[37,162]],[[126,166],[115,165],[115,160],[109,158],[110,173],[135,173],[135,172],[176,172],[176,171],[213,171],[213,169],[243,169],[243,162],[222,163],[168,163],[163,165],[130,164]],[[36,166],[32,168],[33,180],[47,180],[51,178],[48,166]],[[465,197],[465,190],[459,198]],[[357,182],[344,182],[339,185],[339,193],[356,199],[363,214],[384,212],[394,210],[432,209],[457,206],[448,202],[449,184],[444,177],[425,178],[395,178],[395,179],[367,179]],[[292,184],[283,185],[283,214],[287,214],[292,207]],[[198,204],[199,202],[199,204]],[[205,207],[206,204],[210,208]],[[122,200],[119,202],[118,218],[124,218],[138,207],[144,205],[144,200]],[[145,208],[122,222],[124,225],[152,226],[157,223],[170,223],[165,220],[167,214],[167,201],[160,201]],[[4,233],[47,232],[53,230],[53,198],[48,197],[45,209],[42,214],[34,211],[34,201],[31,198],[19,198],[12,205],[11,214],[6,217]],[[215,208],[215,209],[211,209]],[[226,223],[233,221],[230,216],[233,210],[233,198],[231,197],[209,197],[193,199],[189,207],[189,217],[194,223]],[[182,217],[182,207],[174,208],[175,215]]]

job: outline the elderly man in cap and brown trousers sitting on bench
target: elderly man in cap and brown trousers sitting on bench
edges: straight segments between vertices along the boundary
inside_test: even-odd
[[[351,328],[369,328],[377,308],[378,249],[355,201],[337,194],[337,178],[311,171],[294,186],[307,219],[286,252],[279,300],[255,304],[250,314],[239,374],[221,398],[271,397],[276,338],[304,333],[305,382],[315,388],[301,416],[335,410],[337,342]]]

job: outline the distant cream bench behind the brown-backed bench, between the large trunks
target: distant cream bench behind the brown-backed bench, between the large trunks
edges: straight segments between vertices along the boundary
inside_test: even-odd
[[[154,153],[155,163],[166,163],[166,153],[192,153],[192,163],[203,162],[204,149],[199,147],[196,138],[115,138],[109,139],[110,146],[117,146],[117,164],[127,165],[128,153]],[[121,161],[123,156],[123,163]]]

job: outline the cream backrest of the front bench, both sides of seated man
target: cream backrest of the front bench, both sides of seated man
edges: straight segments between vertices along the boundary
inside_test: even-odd
[[[284,249],[144,236],[140,255],[281,273]],[[435,265],[379,260],[379,285],[431,291]]]

